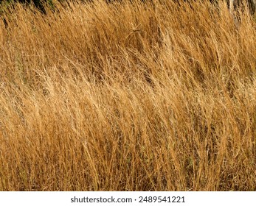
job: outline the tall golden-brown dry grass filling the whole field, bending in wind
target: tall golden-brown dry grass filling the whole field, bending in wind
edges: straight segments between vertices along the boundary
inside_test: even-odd
[[[17,4],[0,22],[1,191],[255,191],[256,23],[224,4]]]

